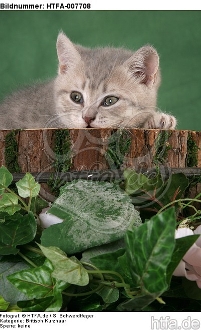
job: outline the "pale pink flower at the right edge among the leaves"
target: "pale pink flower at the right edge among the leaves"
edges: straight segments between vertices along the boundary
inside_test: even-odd
[[[175,233],[175,238],[190,236],[193,234],[201,234],[201,225],[194,231],[186,227],[178,228]],[[196,281],[197,286],[201,289],[201,235],[186,252],[173,275],[185,276],[190,281]]]

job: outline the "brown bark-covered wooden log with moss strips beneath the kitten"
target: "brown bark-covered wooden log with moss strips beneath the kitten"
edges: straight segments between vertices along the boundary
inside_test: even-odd
[[[110,128],[1,130],[2,165],[12,173],[30,172],[38,177],[50,172],[103,172],[125,167],[138,171],[160,168],[167,176],[173,168],[201,168],[201,132]]]

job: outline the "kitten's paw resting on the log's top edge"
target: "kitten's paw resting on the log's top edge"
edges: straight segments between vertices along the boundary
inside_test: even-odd
[[[145,123],[144,128],[174,129],[176,118],[165,113],[155,112]]]

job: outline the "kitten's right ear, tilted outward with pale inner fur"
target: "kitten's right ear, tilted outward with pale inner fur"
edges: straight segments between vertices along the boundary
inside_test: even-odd
[[[159,56],[152,46],[144,46],[127,60],[127,65],[140,84],[151,87],[156,81]]]

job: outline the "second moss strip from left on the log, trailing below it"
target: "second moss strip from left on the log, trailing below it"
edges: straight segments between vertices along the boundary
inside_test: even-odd
[[[67,172],[72,166],[71,162],[71,141],[70,134],[68,129],[58,129],[55,131],[55,162],[53,167],[55,172]],[[57,178],[55,180],[55,175],[52,173],[49,181],[47,182],[48,186],[51,188],[51,192],[57,197],[59,195],[59,188],[65,184]]]

